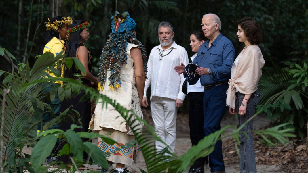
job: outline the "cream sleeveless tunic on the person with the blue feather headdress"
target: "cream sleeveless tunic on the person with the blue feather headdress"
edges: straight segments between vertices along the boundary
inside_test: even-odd
[[[109,87],[110,73],[107,73],[107,78],[105,85],[103,86],[103,91],[100,90],[99,93],[108,96],[109,98],[116,100],[121,106],[128,110],[134,110],[134,112],[140,118],[143,118],[139,104],[139,95],[136,87],[136,78],[134,72],[134,60],[130,56],[130,50],[133,47],[138,47],[132,43],[127,44],[126,55],[127,64],[121,65],[121,87],[113,88]],[[134,118],[133,118],[134,119]],[[120,132],[124,132],[127,135],[133,135],[131,129],[124,122],[124,118],[120,116],[120,113],[115,110],[110,104],[107,108],[102,106],[101,100],[98,100],[96,104],[94,115],[92,116],[90,122],[90,128],[94,131],[106,130],[105,128],[111,128]],[[140,124],[139,129],[141,131],[143,124],[140,121],[136,121],[136,124]]]

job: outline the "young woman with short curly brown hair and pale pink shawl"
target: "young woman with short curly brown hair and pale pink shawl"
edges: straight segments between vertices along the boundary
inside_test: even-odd
[[[245,47],[233,63],[226,104],[230,107],[231,114],[238,113],[238,123],[241,126],[253,116],[259,104],[260,92],[257,85],[265,61],[258,46],[260,43],[258,22],[253,18],[245,17],[237,21],[237,24],[236,35],[240,42],[245,43]],[[253,119],[241,129],[240,140],[240,172],[257,172],[253,144]]]

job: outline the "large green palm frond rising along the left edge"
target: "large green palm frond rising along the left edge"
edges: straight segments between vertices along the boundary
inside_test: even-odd
[[[1,103],[3,103],[3,91],[10,88],[6,96],[5,103],[5,123],[3,127],[3,160],[8,159],[18,146],[16,140],[20,140],[26,135],[27,125],[32,126],[31,116],[35,114],[34,109],[41,108],[42,102],[39,101],[42,93],[42,85],[29,85],[24,88],[24,84],[43,78],[46,75],[44,69],[50,64],[55,64],[61,56],[54,58],[52,53],[45,53],[39,57],[31,70],[29,64],[19,65],[18,72],[14,74],[6,73],[6,80],[0,87]],[[2,104],[1,104],[2,106]]]

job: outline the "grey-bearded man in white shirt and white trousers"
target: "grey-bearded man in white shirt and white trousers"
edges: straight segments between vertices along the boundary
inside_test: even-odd
[[[173,67],[183,62],[189,63],[186,50],[172,40],[173,26],[169,22],[158,25],[160,45],[155,46],[148,60],[147,81],[144,86],[142,106],[147,107],[147,89],[151,85],[151,112],[155,126],[155,133],[173,152],[176,141],[177,108],[183,106],[185,94],[181,87],[185,78],[177,74]],[[166,146],[156,141],[157,151]]]

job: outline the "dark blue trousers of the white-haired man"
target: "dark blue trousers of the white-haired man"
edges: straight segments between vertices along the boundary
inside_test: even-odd
[[[204,90],[204,134],[205,136],[221,129],[220,122],[226,111],[226,91],[229,85],[218,85]],[[222,156],[221,140],[215,144],[214,151],[209,154],[209,167],[211,171],[225,171],[224,159]]]

